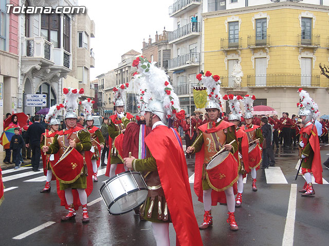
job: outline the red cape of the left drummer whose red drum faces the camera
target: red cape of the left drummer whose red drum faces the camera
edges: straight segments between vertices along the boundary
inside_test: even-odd
[[[79,131],[81,129],[84,129],[84,128],[81,128],[81,127],[75,127],[74,130],[72,131]],[[57,134],[58,135],[64,135],[64,130],[58,132]],[[92,156],[90,155],[90,152],[89,151],[85,151],[84,152],[84,155],[85,155],[85,160],[86,160],[86,163],[87,163],[87,171],[88,171],[88,176],[87,176],[87,189],[86,190],[86,193],[87,193],[87,196],[90,195],[90,193],[92,193],[93,191],[93,186],[94,186],[94,183],[93,183],[93,163],[92,163]],[[56,153],[54,154],[55,156],[55,159],[56,158],[60,158],[59,154]],[[68,206],[70,204],[67,204],[66,202],[66,198],[65,198],[65,192],[64,191],[61,191],[60,190],[60,183],[58,180],[56,180],[56,185],[57,185],[57,194],[58,196],[60,197],[61,199],[61,206],[65,206],[65,209],[68,209]],[[80,202],[80,199],[79,199],[79,193],[76,189],[72,189],[72,194],[73,194],[73,204],[74,204],[74,208],[75,210],[78,210],[80,206],[82,206],[83,204],[81,204]]]

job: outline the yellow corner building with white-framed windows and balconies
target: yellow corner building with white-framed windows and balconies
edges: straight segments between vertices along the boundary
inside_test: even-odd
[[[296,114],[302,87],[329,113],[328,79],[319,69],[328,64],[328,6],[280,2],[202,16],[204,71],[221,76],[223,95],[232,90],[238,63],[242,89],[258,98],[255,105]]]

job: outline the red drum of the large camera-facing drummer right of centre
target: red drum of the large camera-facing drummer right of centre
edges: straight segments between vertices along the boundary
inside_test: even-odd
[[[224,151],[217,155],[206,167],[209,186],[215,191],[225,191],[233,186],[239,177],[237,168],[237,161],[231,152]]]

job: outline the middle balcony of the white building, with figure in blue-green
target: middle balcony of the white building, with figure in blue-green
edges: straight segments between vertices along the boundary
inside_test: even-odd
[[[178,44],[200,35],[200,23],[189,23],[169,33],[169,44]]]

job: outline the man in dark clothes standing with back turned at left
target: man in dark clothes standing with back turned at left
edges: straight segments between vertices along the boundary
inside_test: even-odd
[[[34,172],[40,171],[40,139],[41,134],[45,132],[45,128],[40,124],[40,120],[40,115],[35,115],[34,123],[27,129],[26,147],[29,148],[31,146],[32,149],[31,165]]]

